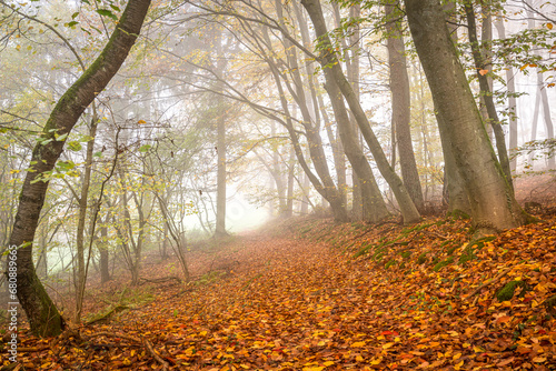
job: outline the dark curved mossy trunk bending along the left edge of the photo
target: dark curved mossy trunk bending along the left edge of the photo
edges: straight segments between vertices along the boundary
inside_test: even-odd
[[[107,46],[68,91],[60,98],[33,148],[29,170],[19,198],[9,244],[18,249],[18,299],[27,313],[31,331],[40,337],[59,334],[63,319],[37,277],[32,251],[48,180],[63,150],[67,134],[79,117],[101,92],[126,60],[141,30],[150,0],[129,1]]]

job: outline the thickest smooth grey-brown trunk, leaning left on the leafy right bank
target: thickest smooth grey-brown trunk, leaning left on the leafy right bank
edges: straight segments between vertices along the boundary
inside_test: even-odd
[[[480,113],[457,58],[438,0],[406,0],[409,28],[464,180],[474,224],[479,233],[522,225],[527,214],[494,153]]]

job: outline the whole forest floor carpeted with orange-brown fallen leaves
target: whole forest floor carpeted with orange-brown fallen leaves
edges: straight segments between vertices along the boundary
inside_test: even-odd
[[[91,288],[88,319],[110,315],[56,339],[22,330],[18,359],[27,370],[556,370],[554,200],[532,205],[543,222],[478,241],[467,220],[440,217],[275,222],[191,252],[191,283]],[[146,263],[142,277],[178,270]]]

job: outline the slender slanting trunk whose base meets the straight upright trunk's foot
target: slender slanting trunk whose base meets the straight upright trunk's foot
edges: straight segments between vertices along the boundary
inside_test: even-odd
[[[319,63],[325,67],[325,78],[327,81],[334,80],[338,84],[344,98],[349,104],[349,108],[361,130],[361,133],[369,146],[373,157],[380,170],[380,173],[386,179],[388,184],[394,191],[396,199],[398,201],[399,208],[401,210],[401,215],[405,223],[413,223],[420,220],[419,212],[415,207],[409,193],[407,192],[401,179],[396,174],[388,163],[378,139],[370,129],[370,123],[363,110],[359,100],[354,93],[351,84],[347,81],[346,76],[341,71],[341,67],[338,63],[338,59],[334,53],[332,43],[328,37],[328,31],[326,28],[326,21],[322,16],[322,9],[320,8],[320,2],[318,0],[302,0],[301,4],[307,9],[309,17],[315,26],[315,31],[317,37],[320,39],[321,49],[319,56]]]

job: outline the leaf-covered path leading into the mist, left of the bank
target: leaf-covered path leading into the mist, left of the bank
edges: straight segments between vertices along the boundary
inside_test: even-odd
[[[228,363],[318,369],[344,353],[355,367],[356,358],[370,358],[349,350],[353,337],[365,341],[365,318],[373,315],[363,290],[368,272],[307,240],[249,234],[228,250],[239,261],[229,277],[177,297],[161,294],[128,320],[120,318],[121,324],[179,344],[171,353],[192,369],[220,370]]]

